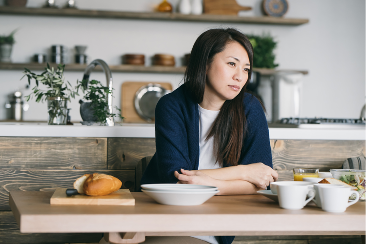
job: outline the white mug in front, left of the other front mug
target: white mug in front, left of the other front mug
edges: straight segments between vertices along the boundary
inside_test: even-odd
[[[306,200],[309,194],[311,197]],[[308,185],[278,184],[277,195],[280,207],[290,210],[298,210],[305,207],[315,197],[315,190]]]

